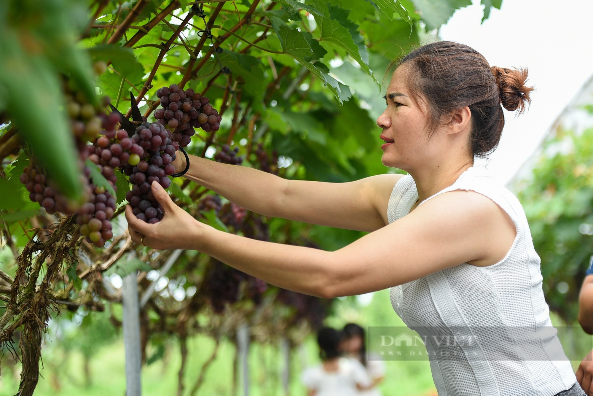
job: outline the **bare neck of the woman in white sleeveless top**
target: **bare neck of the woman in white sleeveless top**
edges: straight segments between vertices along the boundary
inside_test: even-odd
[[[418,202],[414,207],[442,189],[451,186],[462,173],[473,165],[473,158],[463,158],[441,161],[432,166],[411,170],[410,175],[412,175],[418,191]]]

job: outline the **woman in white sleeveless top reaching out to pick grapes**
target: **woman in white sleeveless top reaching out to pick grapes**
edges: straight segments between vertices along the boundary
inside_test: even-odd
[[[369,232],[340,250],[217,231],[177,207],[158,183],[152,193],[164,219],[147,224],[128,207],[130,235],[152,248],[198,250],[273,285],[324,298],[391,288],[393,308],[421,336],[427,327],[439,336],[498,329],[498,337],[477,337],[469,346],[426,338],[439,395],[584,395],[555,333],[530,344],[531,355],[546,359],[518,353],[512,328],[535,334],[552,328],[540,258],[517,198],[486,168],[473,166],[475,156],[498,145],[502,107],[521,113],[530,103],[526,79],[526,70],[490,68],[475,50],[448,41],[404,57],[377,124],[382,163],[406,176],[284,180],[190,157],[185,177],[248,210]],[[178,156],[174,165],[179,171],[186,164]],[[457,359],[442,357],[451,348],[460,352]]]

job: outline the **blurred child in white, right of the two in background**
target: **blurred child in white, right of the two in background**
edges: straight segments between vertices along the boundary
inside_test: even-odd
[[[358,324],[349,323],[344,326],[342,333],[340,349],[343,350],[345,356],[359,360],[371,379],[371,386],[368,389],[359,390],[357,395],[381,396],[381,390],[377,385],[385,378],[385,363],[378,359],[378,356],[367,356],[365,329]]]

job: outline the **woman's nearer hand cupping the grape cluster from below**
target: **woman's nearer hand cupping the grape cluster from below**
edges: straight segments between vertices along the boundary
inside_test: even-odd
[[[126,219],[132,241],[159,250],[199,250],[203,233],[212,228],[175,205],[156,181],[152,182],[152,194],[162,205],[165,215],[160,222],[149,224],[137,219],[132,207],[127,205]]]

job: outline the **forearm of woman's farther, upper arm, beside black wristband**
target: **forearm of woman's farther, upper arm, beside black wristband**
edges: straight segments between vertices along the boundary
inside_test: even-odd
[[[280,215],[277,208],[286,180],[249,167],[222,164],[195,155],[189,157],[190,168],[184,177],[253,212]],[[184,169],[184,162],[177,170]]]

